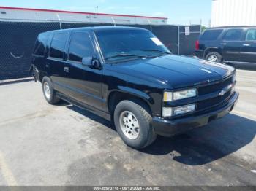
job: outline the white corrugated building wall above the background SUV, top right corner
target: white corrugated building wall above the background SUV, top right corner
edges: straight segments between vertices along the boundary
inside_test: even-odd
[[[256,0],[212,0],[211,27],[256,26]]]

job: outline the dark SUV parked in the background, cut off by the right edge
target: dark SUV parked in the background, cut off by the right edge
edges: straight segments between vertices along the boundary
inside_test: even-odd
[[[197,40],[195,55],[218,63],[256,63],[256,26],[209,28]]]

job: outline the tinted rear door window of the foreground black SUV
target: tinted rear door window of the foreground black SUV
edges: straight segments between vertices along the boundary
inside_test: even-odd
[[[53,40],[50,44],[50,57],[63,58],[67,38],[67,33],[53,34]]]

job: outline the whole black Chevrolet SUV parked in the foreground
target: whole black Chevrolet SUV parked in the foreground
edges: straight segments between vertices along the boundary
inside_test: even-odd
[[[113,120],[135,149],[223,117],[238,100],[233,67],[172,55],[142,28],[39,34],[31,74],[49,104],[64,100]]]

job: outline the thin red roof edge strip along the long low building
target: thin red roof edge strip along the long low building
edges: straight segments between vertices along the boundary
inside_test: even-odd
[[[96,13],[96,12],[75,12],[75,11],[64,11],[55,9],[31,9],[31,8],[21,8],[21,7],[0,7],[0,9],[14,9],[23,11],[38,11],[38,12],[62,12],[62,13],[72,13],[72,14],[84,14],[84,15],[105,15],[105,16],[116,16],[116,17],[140,17],[140,18],[152,18],[152,19],[167,19],[167,17],[148,17],[139,15],[118,15],[118,14],[108,14],[108,13]]]

